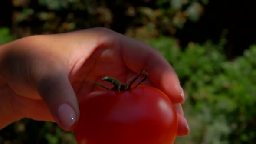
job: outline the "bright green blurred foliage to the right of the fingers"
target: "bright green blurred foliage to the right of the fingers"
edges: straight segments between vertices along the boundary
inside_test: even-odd
[[[190,136],[177,144],[254,144],[256,142],[256,46],[227,61],[222,46],[190,43],[182,51],[174,39],[148,42],[174,67],[187,97]]]

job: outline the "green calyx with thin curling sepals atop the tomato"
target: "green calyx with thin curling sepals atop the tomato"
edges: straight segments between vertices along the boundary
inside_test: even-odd
[[[135,85],[135,87],[133,88],[136,88],[138,85],[140,85],[142,82],[144,82],[147,78],[148,78],[148,73],[145,72],[145,68],[141,70],[140,73],[138,73],[137,75],[134,75],[133,77],[131,77],[131,79],[128,79],[128,81],[125,82],[125,84],[122,84],[121,82],[119,82],[117,79],[114,79],[112,77],[109,77],[109,76],[105,76],[104,78],[102,78],[102,81],[107,81],[107,82],[111,82],[112,85],[114,85],[112,88],[108,88],[106,87],[105,85],[102,85],[98,82],[93,82],[105,89],[108,89],[108,90],[116,90],[116,91],[127,91],[127,90],[131,90],[133,88],[131,88],[131,85],[139,78],[140,75],[142,74],[145,74],[144,78],[141,79],[141,81]],[[131,81],[131,82],[130,82]],[[130,83],[129,83],[130,82]],[[129,83],[129,85],[128,85]]]

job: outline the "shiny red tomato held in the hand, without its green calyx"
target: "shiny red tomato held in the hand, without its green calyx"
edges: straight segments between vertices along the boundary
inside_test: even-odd
[[[173,144],[177,114],[160,90],[92,92],[79,104],[78,144]]]

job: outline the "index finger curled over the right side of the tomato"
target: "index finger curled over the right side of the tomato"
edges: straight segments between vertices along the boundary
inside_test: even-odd
[[[132,38],[121,39],[122,58],[127,67],[140,72],[148,67],[150,81],[164,92],[173,103],[182,103],[180,81],[173,67],[157,49]]]

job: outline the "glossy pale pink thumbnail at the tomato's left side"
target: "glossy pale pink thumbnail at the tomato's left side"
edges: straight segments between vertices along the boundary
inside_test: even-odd
[[[62,104],[59,106],[58,119],[63,127],[70,128],[76,121],[74,109],[69,104]]]

